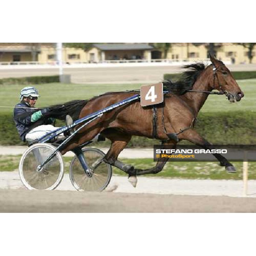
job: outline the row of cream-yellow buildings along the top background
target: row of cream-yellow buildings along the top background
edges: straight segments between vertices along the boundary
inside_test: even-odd
[[[93,44],[89,49],[63,47],[62,59],[67,64],[163,59],[204,61],[208,58],[210,48],[213,47],[216,57],[222,61],[231,61],[233,64],[250,62],[248,49],[233,43],[168,43],[168,49],[162,49],[160,44],[162,43],[104,43]],[[255,51],[252,51],[252,56],[255,56]],[[55,64],[55,43],[0,43],[2,64],[33,61],[41,64]],[[256,63],[256,58],[252,58],[252,63]]]

